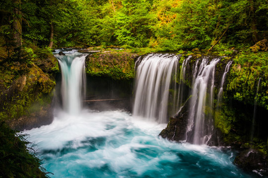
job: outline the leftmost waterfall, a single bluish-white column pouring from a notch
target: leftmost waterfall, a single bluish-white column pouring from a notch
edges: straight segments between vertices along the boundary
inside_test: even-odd
[[[85,57],[87,54],[76,50],[64,52],[57,57],[62,70],[63,108],[67,113],[77,114],[82,108],[85,96]]]

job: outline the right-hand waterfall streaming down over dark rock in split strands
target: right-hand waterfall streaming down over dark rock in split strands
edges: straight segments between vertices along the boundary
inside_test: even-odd
[[[206,144],[213,132],[214,72],[219,61],[215,58],[208,64],[208,59],[203,58],[198,71],[194,70],[197,76],[193,81],[187,128],[187,141],[194,144]]]

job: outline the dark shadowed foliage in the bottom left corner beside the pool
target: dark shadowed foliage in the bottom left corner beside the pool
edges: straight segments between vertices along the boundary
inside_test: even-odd
[[[26,145],[29,142],[24,135],[16,134],[0,121],[0,177],[48,178],[46,170],[41,167],[41,160],[36,157],[33,148]]]

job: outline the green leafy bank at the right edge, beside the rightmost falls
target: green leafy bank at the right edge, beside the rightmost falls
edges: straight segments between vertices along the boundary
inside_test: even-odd
[[[234,58],[227,90],[236,100],[268,109],[268,54],[267,52],[242,52]],[[258,82],[260,86],[257,93]]]

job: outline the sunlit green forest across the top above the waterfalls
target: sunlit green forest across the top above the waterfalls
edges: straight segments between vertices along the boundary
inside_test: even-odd
[[[267,0],[4,0],[1,44],[245,49],[268,36]],[[30,50],[30,49],[28,49]]]

